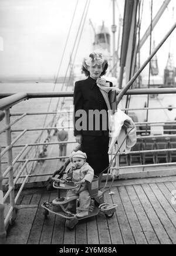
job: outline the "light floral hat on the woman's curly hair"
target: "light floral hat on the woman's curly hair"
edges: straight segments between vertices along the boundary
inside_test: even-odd
[[[93,67],[94,65],[102,65],[104,68],[104,65],[107,63],[107,60],[103,58],[103,54],[100,52],[92,52],[89,55],[89,58],[84,58],[83,60],[83,66],[87,70],[87,66]]]

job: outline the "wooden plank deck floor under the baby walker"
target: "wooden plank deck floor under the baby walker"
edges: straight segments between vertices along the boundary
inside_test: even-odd
[[[8,228],[7,244],[176,244],[176,204],[171,192],[176,176],[117,180],[105,194],[106,202],[118,205],[112,218],[100,212],[80,221],[73,230],[65,219],[49,214],[44,219],[43,201],[57,191],[25,189],[18,200],[15,224]],[[176,192],[175,192],[176,193]]]

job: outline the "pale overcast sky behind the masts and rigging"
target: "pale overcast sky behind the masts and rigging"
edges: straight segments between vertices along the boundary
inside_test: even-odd
[[[59,76],[65,76],[86,2],[87,0],[0,0],[0,78],[55,77],[77,4],[75,18],[59,71]],[[153,16],[163,2],[164,0],[153,0]],[[141,35],[144,34],[145,29],[150,24],[150,3],[151,0],[144,0]],[[117,0],[115,6],[115,22],[118,32],[119,17],[120,15],[123,17],[124,0]],[[173,7],[176,11],[175,0],[171,0],[153,31],[152,36],[155,45],[162,40],[174,23]],[[75,63],[81,63],[83,58],[92,51],[94,32],[89,20],[92,21],[96,30],[104,21],[111,33],[112,9],[112,0],[90,0],[79,48],[77,53],[73,51],[72,55],[74,58],[76,54]],[[78,38],[79,35],[76,45]],[[175,42],[175,31],[172,34],[172,41]],[[161,75],[163,75],[167,63],[169,45],[170,40],[167,40],[157,54]],[[172,48],[174,51],[174,47]],[[141,49],[141,63],[145,61],[148,55],[149,39]],[[144,70],[145,73],[147,74],[147,69]]]

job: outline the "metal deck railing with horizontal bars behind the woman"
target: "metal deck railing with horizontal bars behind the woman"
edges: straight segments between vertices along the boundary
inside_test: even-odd
[[[176,88],[154,88],[154,89],[133,89],[133,90],[128,90],[126,94],[128,95],[134,95],[134,94],[170,94],[170,93],[176,93]],[[18,201],[19,195],[22,192],[22,189],[24,188],[26,182],[28,182],[29,177],[33,176],[48,176],[50,173],[45,173],[45,174],[39,174],[39,173],[32,173],[32,169],[35,168],[35,165],[33,163],[37,163],[39,160],[52,160],[52,159],[60,159],[63,157],[38,157],[36,154],[33,155],[33,157],[29,156],[29,148],[35,149],[36,147],[43,147],[43,146],[49,146],[49,145],[59,145],[60,143],[63,142],[39,142],[38,140],[35,140],[35,142],[32,143],[20,143],[16,144],[21,137],[24,137],[26,132],[29,131],[46,131],[46,134],[48,131],[54,132],[56,127],[55,126],[48,126],[46,124],[45,127],[36,127],[36,128],[31,128],[31,129],[12,129],[13,125],[18,123],[20,120],[22,120],[24,117],[27,116],[35,116],[35,115],[42,115],[42,114],[57,114],[57,116],[60,116],[65,113],[65,111],[54,111],[54,112],[31,112],[31,113],[10,113],[10,109],[13,109],[13,106],[18,104],[19,102],[26,100],[26,99],[34,99],[34,98],[43,98],[43,97],[73,97],[73,91],[65,91],[65,92],[55,92],[55,93],[17,93],[13,94],[11,96],[8,96],[8,94],[1,94],[0,95],[0,111],[1,114],[4,111],[5,113],[5,125],[4,127],[0,130],[0,134],[6,133],[6,146],[5,145],[0,145],[2,146],[2,150],[0,152],[0,239],[4,238],[5,235],[5,228],[8,227],[9,222],[12,222],[15,219],[15,205],[16,202]],[[3,99],[2,99],[3,98]],[[143,108],[143,109],[124,109],[124,110],[154,110],[154,109],[159,109],[155,107],[148,107],[148,108]],[[161,109],[168,109],[165,107],[162,107]],[[172,107],[172,109],[175,109],[175,107]],[[71,114],[72,111],[67,111],[68,114]],[[2,114],[3,116],[3,114]],[[11,117],[16,117],[15,120],[11,121]],[[53,122],[52,122],[53,123]],[[176,121],[171,121],[167,122],[167,125],[173,125]],[[162,138],[164,137],[168,141],[168,147],[165,149],[158,149],[158,148],[153,148],[153,149],[145,149],[145,147],[141,147],[140,150],[135,150],[131,151],[128,156],[133,156],[133,155],[140,155],[141,159],[145,156],[146,153],[151,153],[155,156],[156,153],[158,152],[163,152],[165,155],[168,155],[167,161],[165,163],[158,163],[155,162],[153,164],[145,165],[144,162],[142,162],[141,165],[137,165],[137,167],[150,167],[150,166],[171,166],[171,165],[176,165],[176,162],[169,162],[171,160],[170,152],[175,152],[176,148],[171,148],[169,144],[169,140],[172,137],[176,137],[176,134],[163,134],[163,135],[158,135],[158,136],[150,136],[150,135],[145,135],[141,136],[141,132],[144,132],[147,134],[148,128],[145,130],[141,131],[138,129],[138,126],[147,126],[149,124],[163,124],[163,122],[136,122],[137,126],[137,139],[141,140],[141,145],[144,145],[143,140],[144,139],[157,139],[157,138]],[[61,129],[62,127],[57,127],[57,129]],[[65,129],[71,128],[65,127]],[[167,129],[165,132],[176,132],[175,129]],[[12,134],[11,133],[15,132],[20,132],[18,136],[15,137],[15,139],[12,140]],[[75,140],[72,141],[67,141],[66,143],[76,143]],[[18,153],[17,156],[13,159],[12,155],[12,149],[15,149],[17,147],[21,147],[21,151]],[[31,149],[31,150],[32,150]],[[28,153],[26,153],[28,152]],[[39,152],[39,151],[38,151]],[[6,154],[6,160],[2,160],[2,156]],[[118,157],[116,160],[119,159],[120,156],[124,156],[124,153],[119,153]],[[65,156],[64,158],[67,158],[69,156]],[[120,166],[119,163],[117,162],[117,168],[119,169],[124,169],[124,168],[131,168],[131,162],[129,166]],[[3,169],[2,172],[2,165],[7,165],[6,169]],[[30,166],[30,168],[29,168]],[[118,167],[119,166],[119,167]],[[135,165],[133,167],[136,167]],[[21,187],[18,191],[18,193],[15,195],[15,185],[20,181]],[[3,188],[6,188],[3,192]],[[6,202],[9,199],[9,204],[6,204]],[[4,216],[4,206],[9,206],[9,209],[7,211],[6,216]]]

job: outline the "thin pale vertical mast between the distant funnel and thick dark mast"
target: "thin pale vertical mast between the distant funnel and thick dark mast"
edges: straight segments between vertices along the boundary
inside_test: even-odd
[[[116,30],[117,30],[117,26],[115,24],[115,1],[116,0],[112,0],[113,1],[113,25],[111,25],[111,31],[113,32],[113,77],[116,77],[116,48],[115,48],[115,44],[116,44]]]

